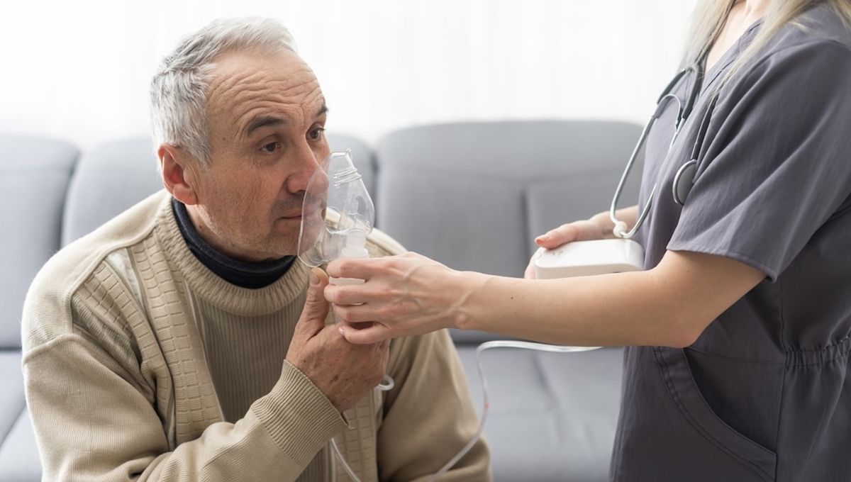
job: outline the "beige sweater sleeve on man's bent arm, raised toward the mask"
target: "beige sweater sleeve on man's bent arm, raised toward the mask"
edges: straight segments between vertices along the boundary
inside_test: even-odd
[[[245,417],[214,423],[169,451],[139,375],[84,333],[39,344],[23,365],[45,480],[295,480],[346,427],[322,392],[285,363]]]

